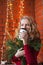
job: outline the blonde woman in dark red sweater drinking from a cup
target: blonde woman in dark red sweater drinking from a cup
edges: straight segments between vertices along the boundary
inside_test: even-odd
[[[24,31],[21,31],[21,29]],[[30,43],[32,45],[40,43],[40,35],[37,25],[31,17],[23,16],[21,18],[18,37],[23,41],[24,47],[17,50],[16,54],[12,57],[12,61],[16,65],[22,65],[20,57],[24,56],[26,65],[38,65],[37,55],[39,50],[36,51],[36,48],[32,47]]]

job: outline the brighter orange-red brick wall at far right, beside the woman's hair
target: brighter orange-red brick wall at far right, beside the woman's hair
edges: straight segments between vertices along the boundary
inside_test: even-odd
[[[43,44],[43,0],[35,0],[35,20],[40,32],[41,43]],[[43,47],[39,53],[39,60],[43,62]]]

